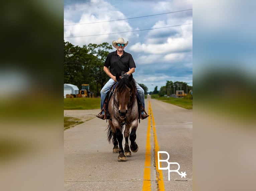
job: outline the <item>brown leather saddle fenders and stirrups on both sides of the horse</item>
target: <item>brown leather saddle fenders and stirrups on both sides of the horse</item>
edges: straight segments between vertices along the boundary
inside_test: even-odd
[[[116,87],[117,83],[118,82],[115,82],[115,84],[113,84],[113,86],[111,87],[110,92],[108,93],[107,97],[104,100],[103,108],[101,109],[101,112],[98,114],[98,115],[100,115],[104,111],[104,118],[103,119],[110,119],[111,120],[111,117],[108,114],[108,103],[109,103],[109,100],[110,100],[111,96],[113,95],[113,92],[115,90],[115,87]],[[141,103],[141,100],[139,98],[139,94],[138,94],[137,91],[136,91],[136,99],[137,99],[137,103],[138,103],[138,113],[139,113],[138,117],[139,117],[139,122],[140,122],[140,119],[143,119],[142,116],[141,116],[141,112],[144,112],[146,115],[147,115],[147,112],[145,111],[145,108],[143,107],[143,105]]]

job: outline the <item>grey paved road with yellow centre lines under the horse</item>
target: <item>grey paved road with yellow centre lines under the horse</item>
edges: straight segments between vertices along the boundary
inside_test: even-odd
[[[145,105],[151,115],[140,120],[139,150],[126,162],[118,162],[118,154],[112,153],[106,120],[94,118],[64,131],[65,191],[192,190],[192,110],[155,99],[146,99]],[[170,172],[168,180],[168,170],[158,169],[157,151],[168,152],[168,161],[180,165],[182,178]],[[165,159],[167,154],[160,155]],[[167,162],[160,164],[167,167]]]

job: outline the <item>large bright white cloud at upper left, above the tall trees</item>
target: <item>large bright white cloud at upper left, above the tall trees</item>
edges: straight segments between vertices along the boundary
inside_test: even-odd
[[[116,33],[118,31],[131,31],[132,27],[126,20],[114,21],[114,22],[103,22],[125,19],[124,14],[116,10],[110,3],[103,0],[94,0],[90,3],[79,3],[65,7],[65,25],[71,25],[64,27],[64,37],[79,37],[88,35],[99,35],[99,36],[89,36],[80,38],[69,38],[68,40],[72,44],[83,46],[84,44],[95,43],[101,44],[106,42],[110,35],[100,35],[100,34],[110,34]],[[78,21],[73,21],[73,15],[79,14],[80,19]],[[101,22],[101,23],[93,23]],[[118,22],[118,24],[117,24]],[[85,24],[92,23],[92,24]],[[116,35],[115,35],[116,36]],[[123,35],[125,39],[128,39],[129,33]],[[114,39],[113,39],[114,40]],[[112,41],[113,41],[112,40]],[[111,42],[112,42],[111,41]]]

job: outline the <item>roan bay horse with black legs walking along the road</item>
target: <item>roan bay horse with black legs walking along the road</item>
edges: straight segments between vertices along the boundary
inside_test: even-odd
[[[131,151],[137,152],[138,145],[135,142],[136,130],[138,127],[138,104],[136,99],[136,83],[132,74],[123,75],[119,77],[116,75],[118,81],[113,95],[111,96],[108,104],[108,112],[110,114],[108,126],[108,141],[113,141],[113,153],[119,153],[118,161],[126,161],[126,157],[131,157]],[[125,146],[123,149],[123,127]],[[131,134],[130,134],[131,128]],[[130,136],[131,151],[129,149],[128,137]],[[119,147],[118,147],[119,144]]]

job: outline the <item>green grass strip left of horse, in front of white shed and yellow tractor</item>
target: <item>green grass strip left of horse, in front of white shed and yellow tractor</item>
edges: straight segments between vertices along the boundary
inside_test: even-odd
[[[100,109],[100,98],[66,98],[64,99],[64,109]]]

